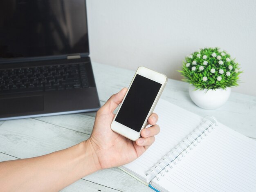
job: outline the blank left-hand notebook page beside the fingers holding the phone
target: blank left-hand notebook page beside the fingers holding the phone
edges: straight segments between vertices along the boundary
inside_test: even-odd
[[[202,117],[162,99],[159,99],[154,112],[159,116],[157,124],[161,129],[160,133],[155,136],[155,142],[142,156],[123,166],[144,178],[150,167],[155,165],[202,121]]]

